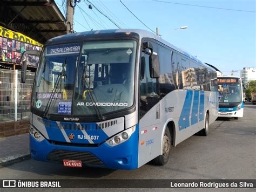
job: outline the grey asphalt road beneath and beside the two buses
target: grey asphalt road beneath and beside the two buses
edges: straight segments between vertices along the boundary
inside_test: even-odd
[[[67,168],[28,159],[1,167],[0,179],[256,179],[255,133],[256,105],[247,104],[244,118],[219,118],[208,136],[194,135],[173,147],[165,166]]]

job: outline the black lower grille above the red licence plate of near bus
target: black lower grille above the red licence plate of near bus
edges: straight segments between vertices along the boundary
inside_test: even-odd
[[[104,166],[104,163],[91,152],[74,152],[71,150],[54,149],[47,155],[46,159],[51,162],[63,162],[64,159],[80,160],[83,164]]]

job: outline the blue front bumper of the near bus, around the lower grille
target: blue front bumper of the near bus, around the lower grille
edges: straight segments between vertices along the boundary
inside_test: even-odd
[[[63,159],[70,159],[82,160],[85,167],[136,169],[138,168],[138,142],[138,125],[129,140],[114,147],[106,143],[98,147],[54,145],[46,139],[39,142],[30,134],[30,154],[32,159],[38,161],[63,163]],[[87,162],[89,159],[89,163],[84,163],[83,159]]]

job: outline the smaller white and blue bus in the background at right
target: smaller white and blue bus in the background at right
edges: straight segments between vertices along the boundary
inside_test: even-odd
[[[244,102],[240,77],[218,77],[219,116],[242,118]]]

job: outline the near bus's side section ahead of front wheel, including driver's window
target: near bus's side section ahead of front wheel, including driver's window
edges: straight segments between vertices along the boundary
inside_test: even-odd
[[[160,147],[160,103],[158,79],[150,77],[150,54],[142,52],[145,66],[140,66],[139,81],[139,161],[145,164],[159,155]]]

